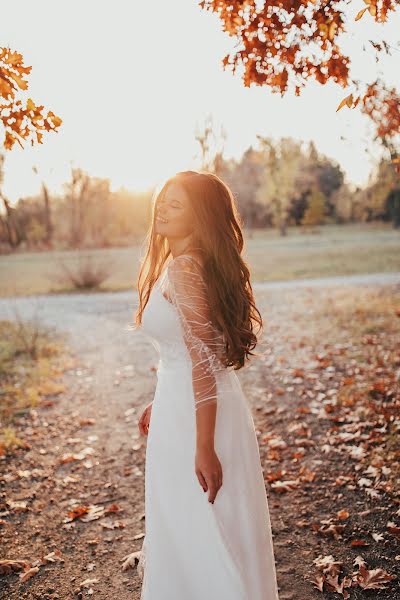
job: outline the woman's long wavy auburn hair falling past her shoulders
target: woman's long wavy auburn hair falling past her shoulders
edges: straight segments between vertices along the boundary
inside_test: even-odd
[[[201,251],[204,275],[214,326],[224,333],[226,365],[235,370],[244,366],[257,345],[257,334],[263,320],[254,301],[250,272],[243,260],[242,222],[233,193],[214,173],[180,171],[167,179],[161,189],[154,191],[152,218],[145,238],[145,255],[137,278],[139,307],[135,324],[142,314],[151,290],[163,271],[171,250],[168,239],[155,231],[157,203],[171,183],[181,185],[190,200],[193,218],[193,239]]]

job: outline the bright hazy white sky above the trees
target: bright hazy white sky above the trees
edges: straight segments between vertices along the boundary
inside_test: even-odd
[[[71,167],[111,180],[111,188],[145,190],[173,173],[199,168],[196,132],[211,115],[226,132],[225,158],[239,159],[257,135],[291,136],[338,162],[346,181],[366,185],[381,153],[373,128],[357,109],[342,108],[348,90],[310,82],[300,97],[266,87],[244,87],[241,72],[224,70],[234,40],[217,15],[197,0],[20,0],[2,3],[0,46],[31,65],[27,96],[63,119],[58,133],[6,153],[3,191],[11,202],[33,195],[46,181],[62,192]],[[349,5],[345,50],[353,74],[373,81],[381,71],[397,85],[400,10],[386,24],[365,5]],[[363,43],[373,39],[398,49],[376,65]],[[367,43],[368,46],[368,43]],[[32,167],[38,169],[35,174]]]

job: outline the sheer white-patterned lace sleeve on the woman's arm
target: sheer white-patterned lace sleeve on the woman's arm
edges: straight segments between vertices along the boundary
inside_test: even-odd
[[[192,361],[195,409],[217,402],[216,372],[225,368],[225,341],[211,321],[207,286],[200,264],[189,255],[168,266],[168,292],[175,305]]]

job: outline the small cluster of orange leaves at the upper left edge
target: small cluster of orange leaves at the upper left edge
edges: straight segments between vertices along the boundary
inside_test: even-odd
[[[24,58],[10,48],[0,48],[0,123],[4,128],[3,146],[11,150],[16,142],[42,143],[44,131],[57,131],[62,120],[51,110],[45,114],[44,106],[38,106],[21,92],[28,89],[26,76],[32,67],[24,66]]]

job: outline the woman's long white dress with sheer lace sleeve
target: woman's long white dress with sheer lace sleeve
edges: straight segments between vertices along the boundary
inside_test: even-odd
[[[159,352],[145,466],[141,600],[279,600],[251,409],[210,320],[200,263],[170,261],[142,315]],[[216,402],[214,504],[195,473],[196,410]]]

